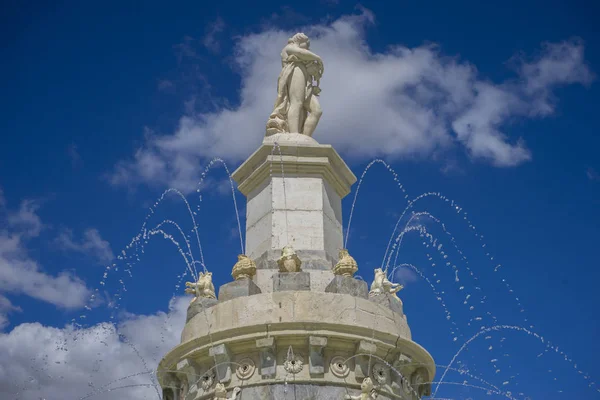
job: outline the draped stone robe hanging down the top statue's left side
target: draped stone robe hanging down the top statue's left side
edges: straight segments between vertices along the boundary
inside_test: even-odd
[[[304,75],[306,85],[304,87],[304,104],[309,104],[310,97],[313,94],[312,76],[306,69],[306,61],[300,60],[295,55],[288,55],[282,60],[281,73],[277,79],[277,99],[275,107],[267,122],[267,135],[275,133],[289,132],[288,126],[288,110],[290,108],[290,82],[296,68],[299,68]],[[304,114],[300,118],[298,129],[302,131],[304,121],[306,120],[306,107]]]

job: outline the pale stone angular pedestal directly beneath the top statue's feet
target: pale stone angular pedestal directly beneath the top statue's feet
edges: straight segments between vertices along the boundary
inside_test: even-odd
[[[341,199],[356,177],[330,145],[301,134],[274,135],[232,177],[248,199],[245,252],[256,262],[254,281],[263,293],[272,287],[262,270],[277,269],[286,245],[304,271],[333,268],[343,247]]]

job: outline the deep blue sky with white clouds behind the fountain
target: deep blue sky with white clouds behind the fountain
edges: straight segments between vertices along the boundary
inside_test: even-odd
[[[416,266],[445,305],[415,273],[395,276],[406,285],[415,341],[440,365],[481,326],[527,328],[555,346],[545,351],[526,332],[491,332],[453,365],[476,378],[450,371],[444,381],[484,379],[519,399],[600,397],[588,387],[600,379],[600,51],[591,3],[203,3],[5,5],[0,393],[79,398],[89,382],[97,388],[143,372],[111,323],[150,369],[176,343],[187,300],[172,299],[185,270],[175,247],[153,238],[133,278],[113,261],[168,187],[194,210],[201,204],[205,262],[217,285],[230,279],[240,245],[226,174],[216,163],[201,203],[196,183],[213,157],[233,170],[260,144],[280,48],[302,30],[326,66],[315,138],[333,144],[357,176],[381,158],[409,198],[439,192],[461,207],[437,196],[413,207],[452,234],[423,216],[417,225],[441,249],[425,247],[418,231],[403,239],[398,262]],[[344,200],[346,222],[353,196]],[[375,164],[348,241],[366,280],[406,204],[392,174]],[[166,196],[149,224],[165,218],[191,232],[177,196]],[[119,270],[103,279],[113,263]],[[118,309],[107,307],[119,279],[127,291]],[[102,304],[87,310],[97,288]],[[87,346],[69,342],[73,319],[86,326]],[[56,345],[64,338],[68,352]],[[108,354],[101,341],[122,350]],[[156,396],[147,387],[122,390]],[[444,384],[437,395],[507,398]]]

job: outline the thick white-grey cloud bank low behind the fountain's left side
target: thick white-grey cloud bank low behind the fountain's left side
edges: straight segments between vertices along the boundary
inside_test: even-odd
[[[156,369],[160,357],[179,343],[188,304],[189,299],[178,298],[171,302],[168,314],[130,315],[118,326],[102,323],[77,331],[76,342],[71,327],[39,323],[21,324],[0,334],[0,354],[4,355],[0,358],[0,397],[16,398],[20,392],[21,400],[78,399],[94,390],[151,384],[152,374],[144,373],[146,367]],[[138,375],[126,378],[134,374]],[[156,389],[148,386],[90,397],[152,398],[157,398]]]

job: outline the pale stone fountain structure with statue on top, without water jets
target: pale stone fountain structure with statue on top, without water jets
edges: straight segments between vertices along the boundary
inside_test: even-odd
[[[190,306],[197,312],[181,343],[158,367],[164,398],[225,398],[217,395],[225,387],[234,397],[281,399],[290,383],[303,399],[420,398],[431,392],[435,365],[412,340],[401,286],[378,269],[368,292],[343,249],[341,200],[356,177],[332,146],[311,137],[318,86],[302,71],[322,71],[320,58],[302,34],[282,57],[265,140],[232,175],[247,197],[240,260],[252,265],[252,278],[222,285],[218,301]],[[301,104],[298,88],[308,97]]]

